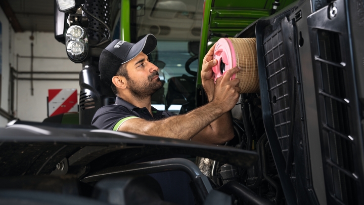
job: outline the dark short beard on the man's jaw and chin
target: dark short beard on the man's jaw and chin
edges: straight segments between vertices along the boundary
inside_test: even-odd
[[[148,80],[144,81],[134,81],[129,78],[130,93],[139,100],[152,96],[163,86],[159,78],[153,80],[153,78],[158,75],[158,71],[154,71],[151,75],[148,76]]]

